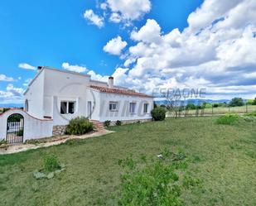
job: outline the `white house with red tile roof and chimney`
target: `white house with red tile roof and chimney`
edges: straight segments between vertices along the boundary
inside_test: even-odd
[[[104,83],[87,74],[41,66],[24,93],[25,111],[38,119],[52,119],[53,126],[78,116],[99,122],[147,121],[152,108],[152,96],[115,86],[113,77]]]

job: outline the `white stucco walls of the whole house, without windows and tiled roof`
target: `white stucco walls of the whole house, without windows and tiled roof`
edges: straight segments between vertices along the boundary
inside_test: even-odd
[[[88,103],[91,102],[91,119],[136,120],[151,118],[152,98],[142,98],[117,93],[100,93],[89,85],[107,87],[107,84],[91,81],[89,75],[74,74],[45,68],[31,84],[26,98],[29,100],[29,113],[37,118],[52,117],[53,125],[66,125],[74,117],[89,117]],[[60,102],[75,102],[75,113],[60,114]],[[118,111],[109,111],[109,102],[118,102]],[[136,102],[136,112],[129,113],[129,103]],[[148,113],[143,113],[143,103],[148,103]]]

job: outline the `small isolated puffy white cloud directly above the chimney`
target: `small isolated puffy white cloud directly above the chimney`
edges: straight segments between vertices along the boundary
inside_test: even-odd
[[[103,48],[105,52],[108,52],[111,55],[120,55],[122,50],[127,46],[126,41],[122,41],[121,36],[110,40]]]

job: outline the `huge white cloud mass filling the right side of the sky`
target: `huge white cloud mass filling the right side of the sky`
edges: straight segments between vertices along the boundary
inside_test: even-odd
[[[164,33],[155,20],[147,20],[131,33],[137,44],[128,48],[115,81],[150,91],[205,88],[211,98],[254,97],[255,9],[253,0],[205,0],[182,32]]]

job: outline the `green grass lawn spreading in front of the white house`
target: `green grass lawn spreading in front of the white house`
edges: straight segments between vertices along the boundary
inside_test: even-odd
[[[164,148],[188,158],[185,182],[193,183],[190,176],[202,181],[181,191],[184,204],[255,205],[255,122],[226,126],[216,120],[182,117],[111,127],[116,132],[104,137],[0,156],[1,205],[114,205],[123,173],[118,160],[156,157]],[[50,153],[66,165],[65,172],[35,180],[32,172]]]

